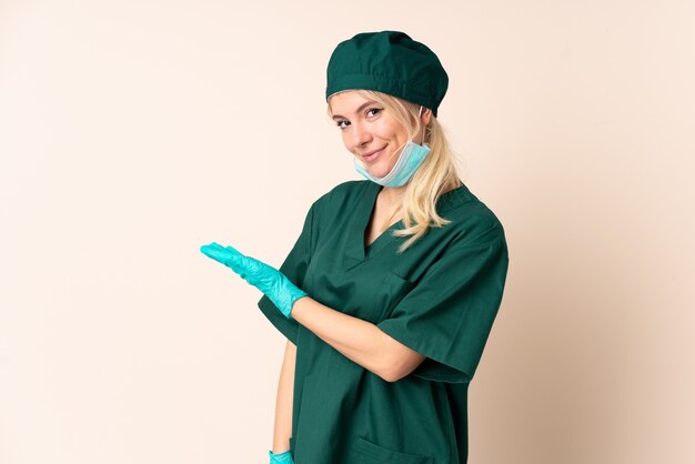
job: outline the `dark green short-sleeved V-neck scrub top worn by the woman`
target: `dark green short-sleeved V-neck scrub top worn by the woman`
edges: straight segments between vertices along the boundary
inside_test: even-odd
[[[259,307],[296,345],[295,464],[466,463],[467,390],[502,301],[508,255],[495,214],[465,185],[440,196],[452,223],[403,254],[393,224],[369,246],[381,185],[344,182],[310,208],[280,268],[309,296],[372,322],[426,356],[396,382],[345,357],[263,296]]]

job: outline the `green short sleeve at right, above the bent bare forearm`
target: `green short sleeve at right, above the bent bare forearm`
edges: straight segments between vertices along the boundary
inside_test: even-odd
[[[473,379],[502,302],[508,254],[504,233],[486,244],[447,250],[377,326],[427,359],[412,373]]]

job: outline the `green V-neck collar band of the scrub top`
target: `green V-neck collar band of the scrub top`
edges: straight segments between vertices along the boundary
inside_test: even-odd
[[[352,213],[352,221],[349,226],[348,248],[345,250],[345,265],[352,268],[370,256],[376,254],[380,250],[394,241],[396,238],[392,234],[394,229],[403,228],[403,220],[393,223],[389,229],[383,231],[372,243],[364,245],[364,235],[369,226],[372,213],[376,208],[376,198],[382,186],[372,181],[362,181],[362,193],[359,195],[355,208]],[[456,205],[471,200],[473,194],[465,184],[444,192],[436,202],[436,211],[440,214],[455,208]]]

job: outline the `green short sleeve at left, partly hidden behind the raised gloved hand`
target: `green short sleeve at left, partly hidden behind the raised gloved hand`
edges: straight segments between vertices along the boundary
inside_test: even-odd
[[[290,253],[285,258],[282,265],[279,268],[294,285],[302,289],[304,284],[304,276],[306,275],[306,268],[311,259],[311,239],[313,229],[314,205],[309,209],[306,218],[304,219],[304,225],[302,232],[296,239],[294,246],[290,250]],[[258,303],[259,307],[265,314],[268,320],[288,337],[292,343],[296,344],[296,333],[299,323],[293,319],[286,319],[280,310],[273,304],[273,302],[265,295],[261,297]]]

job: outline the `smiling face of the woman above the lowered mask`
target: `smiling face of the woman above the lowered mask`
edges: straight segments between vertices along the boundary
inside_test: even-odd
[[[348,151],[362,160],[372,175],[385,176],[410,140],[407,130],[376,101],[354,91],[332,95],[329,104]]]

